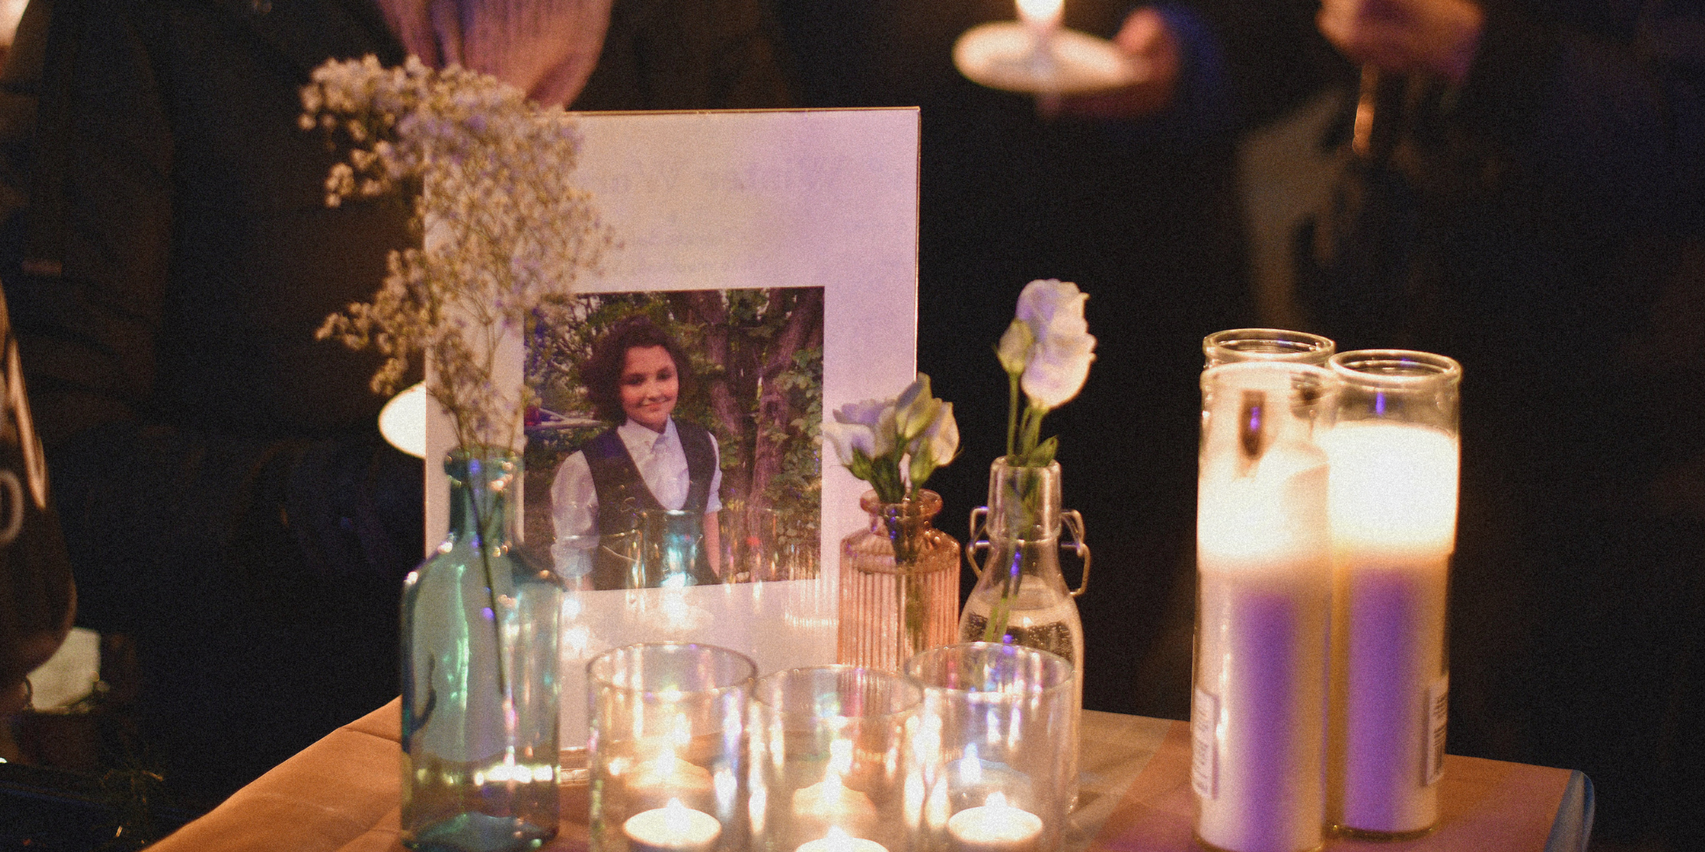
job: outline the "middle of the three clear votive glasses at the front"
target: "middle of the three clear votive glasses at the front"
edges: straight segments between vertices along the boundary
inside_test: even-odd
[[[759,680],[747,726],[752,849],[909,849],[921,704],[922,690],[893,671],[813,666]]]

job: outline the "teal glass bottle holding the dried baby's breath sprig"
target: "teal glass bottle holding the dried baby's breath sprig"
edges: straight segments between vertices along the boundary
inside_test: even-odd
[[[522,462],[457,450],[450,532],[402,583],[402,843],[537,849],[558,825],[561,581],[510,547]]]

